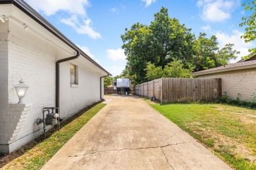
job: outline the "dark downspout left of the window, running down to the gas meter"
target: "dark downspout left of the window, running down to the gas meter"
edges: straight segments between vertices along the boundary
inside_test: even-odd
[[[65,61],[70,61],[72,59],[79,58],[80,52],[77,51],[75,56],[72,56],[70,58],[64,58],[64,59],[59,59],[56,61],[56,95],[55,95],[55,107],[60,108],[60,63],[65,62]],[[60,109],[56,109],[56,113],[58,113]]]

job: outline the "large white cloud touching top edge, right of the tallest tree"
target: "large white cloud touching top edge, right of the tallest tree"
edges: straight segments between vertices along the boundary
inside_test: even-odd
[[[234,8],[240,5],[240,0],[198,0],[196,5],[201,10],[202,20],[222,22],[230,18]]]

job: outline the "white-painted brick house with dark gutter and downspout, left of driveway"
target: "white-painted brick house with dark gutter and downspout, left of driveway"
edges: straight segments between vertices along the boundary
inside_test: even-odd
[[[43,133],[43,125],[35,124],[43,107],[59,107],[68,118],[100,101],[108,75],[24,1],[0,0],[0,152]],[[20,79],[30,86],[25,104],[16,104]]]

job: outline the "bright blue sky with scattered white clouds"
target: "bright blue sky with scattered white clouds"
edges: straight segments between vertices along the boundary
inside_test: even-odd
[[[240,39],[244,28],[238,24],[247,15],[242,0],[25,1],[114,76],[126,63],[120,38],[125,27],[130,29],[137,22],[149,25],[161,7],[168,9],[170,18],[192,28],[196,36],[200,32],[216,35],[221,47],[233,43],[241,52],[236,60],[255,46]]]

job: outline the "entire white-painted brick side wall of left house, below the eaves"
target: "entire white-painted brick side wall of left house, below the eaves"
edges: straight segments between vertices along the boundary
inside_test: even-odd
[[[53,44],[43,41],[29,31],[20,29],[12,20],[9,20],[9,31],[8,41],[6,41],[6,33],[0,34],[3,39],[0,43],[4,44],[0,47],[0,69],[2,69],[0,72],[0,152],[6,152],[6,150],[11,152],[43,133],[43,124],[37,126],[35,120],[42,118],[43,107],[55,107],[56,60],[60,56],[70,57],[59,48],[55,48]],[[77,88],[70,87],[70,63],[74,63],[79,69]],[[30,86],[24,102],[32,103],[32,107],[28,115],[22,119],[24,126],[17,132],[14,129],[17,126],[16,121],[20,119],[16,118],[15,110],[12,110],[9,103],[18,102],[13,86],[18,84],[21,78]],[[60,115],[62,118],[68,118],[99,100],[100,73],[91,70],[77,59],[60,63]],[[15,139],[9,139],[8,137],[12,137],[14,133]]]

